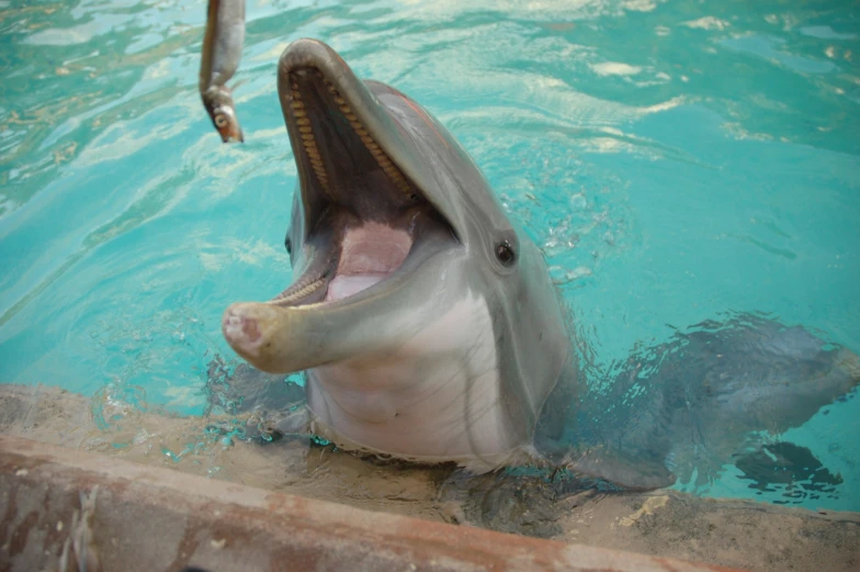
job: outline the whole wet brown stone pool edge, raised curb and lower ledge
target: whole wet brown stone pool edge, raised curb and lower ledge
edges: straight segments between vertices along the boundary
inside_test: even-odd
[[[584,492],[527,503],[519,523],[546,524],[544,540],[464,526],[503,529],[441,494],[426,470],[295,442],[215,442],[177,461],[163,451],[181,450],[205,419],[128,408],[97,427],[91,399],[3,384],[0,406],[0,570],[57,570],[81,530],[71,526],[80,493],[93,490],[104,571],[860,569],[856,513]],[[503,504],[514,493],[501,494]]]

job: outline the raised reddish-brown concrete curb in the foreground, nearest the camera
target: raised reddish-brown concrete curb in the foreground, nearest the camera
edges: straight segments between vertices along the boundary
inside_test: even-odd
[[[5,435],[0,570],[57,570],[80,493],[97,486],[92,538],[105,572],[729,570],[373,513]]]

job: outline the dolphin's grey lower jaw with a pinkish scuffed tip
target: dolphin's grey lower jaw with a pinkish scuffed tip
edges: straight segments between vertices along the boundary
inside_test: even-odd
[[[463,249],[452,247],[450,237],[438,229],[427,232],[396,271],[376,277],[370,288],[350,291],[348,283],[346,292],[337,292],[339,280],[361,280],[366,274],[332,273],[324,279],[327,292],[319,302],[281,304],[275,299],[230,305],[222,332],[237,354],[271,373],[385,354],[420,330],[422,316],[438,314],[444,307],[440,304],[451,302],[434,294],[440,277],[462,256]],[[415,312],[414,318],[392,326],[404,307]]]

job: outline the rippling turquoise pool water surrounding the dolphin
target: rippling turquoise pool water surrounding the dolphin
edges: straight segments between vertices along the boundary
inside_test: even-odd
[[[301,36],[464,144],[598,367],[725,312],[860,351],[850,2],[250,0],[239,146],[197,94],[204,7],[0,1],[0,381],[203,411],[224,307],[288,281],[274,68]],[[678,487],[860,511],[859,433],[853,399],[780,437],[839,475],[829,493],[734,467]]]

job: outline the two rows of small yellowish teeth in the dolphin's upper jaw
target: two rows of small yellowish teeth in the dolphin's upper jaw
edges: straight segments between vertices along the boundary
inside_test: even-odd
[[[367,130],[364,125],[361,124],[359,119],[355,116],[355,113],[350,109],[347,101],[340,96],[337,88],[326,79],[321,72],[317,71],[317,76],[322,78],[326,88],[331,93],[335,99],[335,103],[338,104],[340,108],[340,112],[343,113],[343,116],[347,117],[347,121],[350,122],[352,128],[355,131],[355,134],[361,138],[364,146],[367,147],[367,150],[373,155],[373,158],[376,159],[376,162],[382,168],[383,172],[391,179],[395,187],[397,187],[404,193],[411,195],[411,187],[409,186],[409,181],[406,180],[400,169],[397,168],[396,165],[392,162],[385,152],[380,148],[380,145],[373,141],[373,137],[367,133]],[[310,168],[314,169],[314,173],[317,176],[317,180],[319,180],[319,184],[322,187],[322,190],[326,191],[330,195],[329,186],[328,186],[328,173],[322,165],[322,158],[319,155],[319,148],[317,147],[317,142],[314,137],[314,132],[310,126],[310,120],[307,117],[307,113],[305,112],[305,104],[302,102],[302,94],[298,91],[298,85],[293,81],[292,82],[292,94],[293,94],[293,114],[296,117],[296,125],[298,127],[298,135],[302,138],[302,145],[305,147],[305,153],[307,153],[307,157],[310,160]]]

